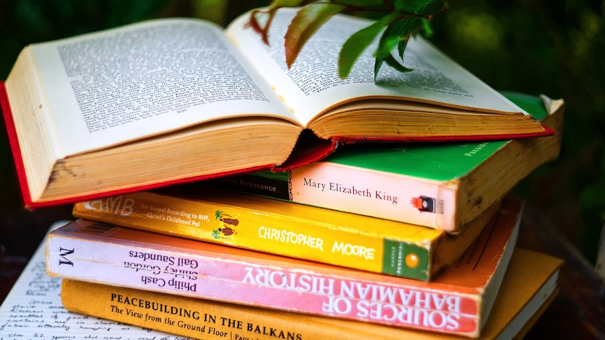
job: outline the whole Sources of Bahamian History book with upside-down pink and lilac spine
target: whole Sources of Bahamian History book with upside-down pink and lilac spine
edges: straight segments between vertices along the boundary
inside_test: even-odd
[[[434,281],[399,278],[84,219],[48,236],[51,276],[478,336],[496,299],[519,223],[485,229]]]

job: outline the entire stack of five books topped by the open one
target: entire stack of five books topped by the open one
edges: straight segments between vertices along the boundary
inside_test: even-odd
[[[248,15],[34,44],[0,83],[25,205],[74,204],[47,240],[63,306],[199,339],[522,336],[561,261],[515,247],[507,194],[559,154],[562,100],[420,37],[413,72],[338,79],[368,25],[346,15],[288,69],[293,11],[269,45]]]

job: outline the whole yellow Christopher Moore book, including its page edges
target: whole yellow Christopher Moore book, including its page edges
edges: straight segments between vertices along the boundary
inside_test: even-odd
[[[75,217],[288,257],[431,280],[486,226],[514,225],[509,199],[457,235],[415,224],[183,184],[76,203]]]

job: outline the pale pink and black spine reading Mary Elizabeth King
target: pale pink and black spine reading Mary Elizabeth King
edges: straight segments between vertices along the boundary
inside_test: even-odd
[[[289,170],[215,179],[226,189],[456,232],[456,183],[319,161]]]

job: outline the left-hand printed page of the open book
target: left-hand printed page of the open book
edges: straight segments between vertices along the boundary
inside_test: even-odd
[[[164,19],[34,44],[61,156],[223,117],[294,116],[221,27]]]

